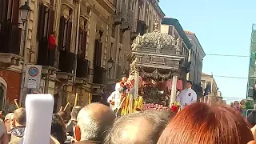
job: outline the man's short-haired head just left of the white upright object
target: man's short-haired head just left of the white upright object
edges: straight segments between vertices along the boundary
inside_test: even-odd
[[[26,126],[26,109],[22,107],[14,110],[13,120],[14,126]]]

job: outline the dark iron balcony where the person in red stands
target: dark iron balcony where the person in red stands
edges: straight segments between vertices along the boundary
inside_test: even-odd
[[[38,65],[42,65],[43,74],[55,74],[58,70],[58,51],[55,48],[49,48],[47,38],[42,38],[38,45]]]

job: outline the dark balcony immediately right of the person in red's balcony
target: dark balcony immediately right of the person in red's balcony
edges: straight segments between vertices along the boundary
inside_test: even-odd
[[[75,54],[68,50],[60,50],[57,78],[73,80]]]

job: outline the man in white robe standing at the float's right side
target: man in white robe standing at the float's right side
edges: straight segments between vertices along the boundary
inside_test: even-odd
[[[197,102],[197,94],[194,90],[192,90],[192,82],[187,81],[186,82],[186,89],[182,90],[180,94],[178,94],[178,97],[176,99],[177,102],[181,103],[182,109],[184,109],[186,106]]]

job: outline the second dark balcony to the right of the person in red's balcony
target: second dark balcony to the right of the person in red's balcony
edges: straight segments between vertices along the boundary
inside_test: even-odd
[[[76,81],[78,83],[85,83],[90,79],[90,61],[85,58],[78,57],[76,77]]]

